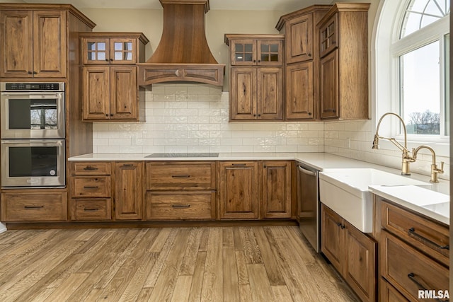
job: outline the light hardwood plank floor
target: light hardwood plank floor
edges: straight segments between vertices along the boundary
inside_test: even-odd
[[[357,301],[297,226],[0,234],[0,301]]]

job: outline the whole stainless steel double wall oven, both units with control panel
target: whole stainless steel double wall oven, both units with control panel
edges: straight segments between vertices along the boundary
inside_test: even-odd
[[[0,83],[1,187],[64,187],[64,83]]]

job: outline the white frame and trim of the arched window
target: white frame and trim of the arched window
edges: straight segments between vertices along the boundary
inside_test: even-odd
[[[425,25],[415,33],[400,38],[401,25],[406,13],[406,9],[411,0],[406,1],[380,1],[377,10],[377,20],[374,23],[374,33],[372,38],[372,116],[375,117],[373,129],[376,130],[377,121],[386,112],[400,113],[400,59],[402,54],[410,50],[423,47],[440,41],[441,55],[445,56],[445,34],[449,33],[449,15],[434,23]],[[445,29],[444,29],[445,28]],[[442,30],[440,30],[442,29]],[[433,37],[433,35],[435,35]],[[450,37],[451,38],[451,37]],[[451,50],[450,50],[451,51]],[[448,54],[447,54],[448,55]],[[445,134],[445,57],[440,60],[441,73],[441,98],[440,135],[414,135],[408,134],[408,149],[425,144],[432,146],[440,156],[449,156],[449,136]],[[388,68],[385,68],[387,66]],[[441,100],[440,100],[441,101]],[[451,117],[450,117],[451,118]],[[386,137],[395,137],[398,141],[403,141],[401,134],[401,124],[395,119],[385,120],[379,128],[379,134]],[[393,150],[394,146],[388,141],[380,142],[381,149]]]

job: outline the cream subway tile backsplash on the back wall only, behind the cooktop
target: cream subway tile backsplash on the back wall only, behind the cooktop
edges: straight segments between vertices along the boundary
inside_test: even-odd
[[[229,122],[221,88],[155,84],[144,93],[144,122],[93,123],[93,152],[323,152],[323,122]]]

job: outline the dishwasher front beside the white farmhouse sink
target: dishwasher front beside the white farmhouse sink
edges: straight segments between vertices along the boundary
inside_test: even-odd
[[[316,252],[321,252],[321,204],[319,203],[319,170],[297,165],[297,206],[299,228]]]

